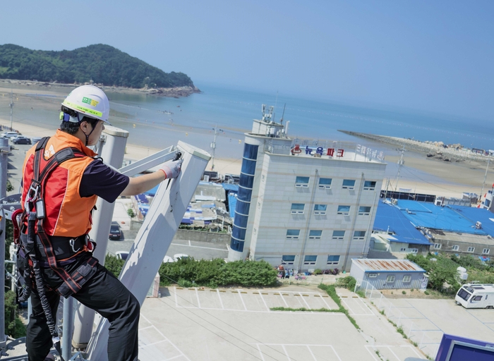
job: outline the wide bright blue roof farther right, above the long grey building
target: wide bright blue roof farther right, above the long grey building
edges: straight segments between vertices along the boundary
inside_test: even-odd
[[[459,206],[454,207],[459,208]],[[481,211],[481,209],[461,207],[464,209],[464,212],[459,212],[453,207],[439,207],[433,203],[416,202],[413,200],[399,200],[397,208],[400,209],[404,216],[417,227],[434,228],[447,232],[480,235],[488,234],[483,229],[476,229],[476,221],[471,221],[471,219],[475,218],[473,217],[473,212]],[[467,208],[470,208],[473,211],[466,211]],[[467,218],[464,214],[469,214],[470,217]],[[478,221],[480,221],[480,219],[478,219]]]

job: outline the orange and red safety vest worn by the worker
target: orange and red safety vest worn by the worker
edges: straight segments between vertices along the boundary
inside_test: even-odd
[[[43,228],[48,235],[78,237],[87,234],[92,227],[91,211],[95,207],[97,195],[80,197],[79,185],[85,169],[94,160],[91,157],[97,154],[85,147],[78,137],[57,130],[44,147],[42,162],[49,161],[56,152],[67,147],[78,149],[88,157],[76,157],[64,161],[47,178],[44,190],[46,215]],[[23,207],[33,178],[35,148],[36,145],[29,149],[24,161],[21,200]]]

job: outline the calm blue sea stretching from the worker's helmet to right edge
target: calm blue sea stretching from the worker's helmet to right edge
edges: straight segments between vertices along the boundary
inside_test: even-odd
[[[337,104],[330,99],[314,100],[303,95],[267,94],[217,85],[200,85],[200,90],[200,94],[178,99],[110,93],[112,110],[125,114],[133,122],[132,126],[126,124],[120,116],[114,123],[131,132],[129,142],[150,146],[160,142],[160,132],[150,133],[148,129],[153,126],[189,127],[203,134],[214,134],[217,127],[221,130],[219,137],[238,140],[251,130],[254,118],[261,118],[261,106],[266,104],[267,108],[274,107],[275,121],[289,121],[288,135],[294,138],[364,142],[338,131],[351,130],[494,149],[492,121]]]

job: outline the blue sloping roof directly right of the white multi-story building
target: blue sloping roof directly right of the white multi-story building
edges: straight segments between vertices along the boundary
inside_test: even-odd
[[[401,201],[400,201],[401,202]],[[393,231],[390,242],[411,243],[414,245],[430,245],[429,240],[410,223],[397,207],[382,202],[378,203],[373,229],[375,231]]]

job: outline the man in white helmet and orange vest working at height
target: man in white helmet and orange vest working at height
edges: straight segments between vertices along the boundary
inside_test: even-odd
[[[41,283],[44,287],[37,283],[39,279],[32,281],[35,285],[30,291],[32,314],[26,336],[30,361],[52,360],[49,350],[55,343],[50,336],[54,327],[49,328],[47,314],[51,310],[56,319],[60,295],[76,298],[109,320],[109,361],[135,361],[138,357],[140,305],[132,293],[92,257],[94,246],[88,238],[91,213],[97,197],[114,202],[119,195],[138,195],[165,179],[176,178],[182,161],[167,161],[158,171],[143,176],[123,176],[95,158],[97,154],[89,148],[97,144],[105,123],[109,124],[108,116],[109,101],[100,88],[77,87],[62,103],[59,130],[44,141],[44,146],[34,145],[25,158],[21,202],[25,214],[37,214],[32,217],[37,228],[33,238],[35,257],[31,258],[39,266],[44,281]],[[40,184],[32,181],[36,171],[42,173],[54,155],[60,158],[64,153],[59,151],[67,148],[72,149],[73,157],[55,166]],[[37,153],[40,153],[38,158]],[[35,199],[37,202],[33,204]],[[26,220],[21,240],[29,239],[29,226],[25,224]]]

